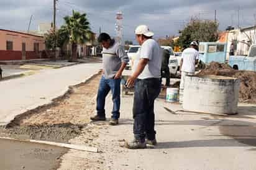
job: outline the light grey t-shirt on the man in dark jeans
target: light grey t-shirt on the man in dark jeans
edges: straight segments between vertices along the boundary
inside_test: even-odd
[[[149,59],[149,63],[145,66],[138,79],[161,78],[162,49],[155,40],[149,39],[142,44],[135,56],[134,71],[142,58]]]

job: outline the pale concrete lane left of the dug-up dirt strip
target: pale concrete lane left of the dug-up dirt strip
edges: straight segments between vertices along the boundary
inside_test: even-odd
[[[27,110],[50,103],[65,94],[68,86],[84,82],[100,68],[101,64],[88,63],[45,69],[24,78],[0,81],[0,125],[6,125]]]

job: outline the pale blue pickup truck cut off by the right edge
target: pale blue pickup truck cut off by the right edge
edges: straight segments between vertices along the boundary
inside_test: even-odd
[[[234,69],[256,71],[256,45],[251,45],[247,56],[229,56],[229,65]]]

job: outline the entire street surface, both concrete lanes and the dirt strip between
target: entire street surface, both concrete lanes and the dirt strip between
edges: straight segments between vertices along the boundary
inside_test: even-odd
[[[91,75],[98,73],[99,68],[101,64],[88,63],[60,69],[43,69],[37,74],[2,81],[1,89],[10,89],[3,91],[1,95],[2,124],[6,125],[17,115],[62,96],[68,86],[85,82]],[[130,71],[125,71],[124,74],[130,74]],[[32,155],[43,155],[35,156],[41,169],[56,168],[58,164],[58,169],[256,168],[255,104],[239,103],[238,115],[230,116],[190,112],[173,114],[176,110],[182,110],[181,105],[165,102],[162,94],[155,102],[158,145],[145,150],[127,150],[123,148],[124,141],[133,139],[132,93],[121,99],[120,125],[111,127],[108,122],[89,122],[89,116],[94,114],[99,78],[100,74],[96,74],[88,83],[76,87],[74,94],[59,99],[52,106],[45,109],[42,107],[25,115],[16,120],[13,127],[1,130],[1,135],[12,138],[94,146],[99,153],[0,140],[3,148],[29,148],[28,152],[11,150],[9,157],[15,154],[21,155],[22,159],[17,158],[16,163],[11,163],[8,158],[4,164],[0,164],[7,169],[19,166],[33,169],[35,164],[29,158]],[[175,84],[177,80],[171,79],[171,84]],[[85,101],[89,102],[84,104]],[[112,100],[109,95],[106,100],[107,118],[111,116],[111,109]],[[86,125],[81,127],[80,124]],[[55,161],[45,159],[44,156],[48,154]]]

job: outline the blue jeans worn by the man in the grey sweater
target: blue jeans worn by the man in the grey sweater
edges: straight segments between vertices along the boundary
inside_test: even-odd
[[[112,109],[112,119],[119,119],[120,117],[120,84],[121,79],[105,79],[104,75],[101,77],[99,81],[99,89],[97,95],[97,114],[100,117],[106,117],[105,113],[105,100],[106,96],[111,90],[112,92],[112,101],[113,101],[113,109]]]

